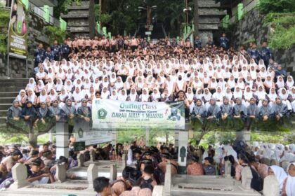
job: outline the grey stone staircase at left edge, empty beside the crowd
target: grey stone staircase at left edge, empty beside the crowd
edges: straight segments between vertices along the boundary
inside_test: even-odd
[[[25,89],[28,78],[0,80],[0,128],[6,127],[6,112],[20,90]]]

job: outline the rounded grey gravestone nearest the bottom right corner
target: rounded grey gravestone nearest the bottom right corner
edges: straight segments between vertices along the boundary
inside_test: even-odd
[[[263,181],[264,196],[279,196],[280,186],[275,176],[266,176]]]

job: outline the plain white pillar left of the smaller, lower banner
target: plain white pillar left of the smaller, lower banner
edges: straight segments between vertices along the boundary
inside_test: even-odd
[[[69,127],[67,123],[56,123],[56,158],[69,158]]]

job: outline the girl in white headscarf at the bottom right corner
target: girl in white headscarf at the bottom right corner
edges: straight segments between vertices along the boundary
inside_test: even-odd
[[[295,195],[295,162],[288,165],[287,174],[282,187],[282,196],[293,196]]]

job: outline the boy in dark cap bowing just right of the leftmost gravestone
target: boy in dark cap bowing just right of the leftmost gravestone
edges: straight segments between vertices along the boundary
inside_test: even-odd
[[[27,177],[27,181],[32,183],[33,185],[36,184],[46,184],[51,181],[54,182],[53,176],[49,172],[44,172],[41,170],[41,160],[37,159],[30,163],[30,172],[29,176]]]

